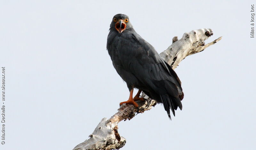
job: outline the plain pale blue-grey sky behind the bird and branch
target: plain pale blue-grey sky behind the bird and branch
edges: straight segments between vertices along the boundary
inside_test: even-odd
[[[124,13],[160,53],[194,29],[211,42],[175,69],[183,110],[169,121],[156,105],[119,123],[122,150],[251,150],[256,147],[253,1],[0,1],[0,65],[6,69],[6,141],[2,150],[71,150],[111,117],[128,88],[106,42]],[[255,1],[254,1],[255,4]],[[106,107],[107,106],[107,107]],[[132,130],[131,130],[132,128]]]

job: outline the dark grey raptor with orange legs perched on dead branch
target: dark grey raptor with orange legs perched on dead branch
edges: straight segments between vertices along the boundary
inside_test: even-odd
[[[138,108],[135,101],[144,101],[140,97],[143,91],[157,103],[162,103],[171,119],[170,110],[175,116],[181,100],[184,97],[181,82],[172,67],[159,56],[155,48],[135,32],[130,19],[125,14],[116,14],[110,24],[107,50],[117,73],[126,82],[129,89],[129,99],[120,105],[132,104]],[[133,89],[138,93],[133,97]]]

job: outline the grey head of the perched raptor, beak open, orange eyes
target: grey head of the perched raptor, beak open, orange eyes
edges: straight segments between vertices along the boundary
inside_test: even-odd
[[[124,30],[132,29],[132,24],[130,23],[129,17],[124,14],[116,14],[110,24],[110,30],[115,30],[121,35]]]

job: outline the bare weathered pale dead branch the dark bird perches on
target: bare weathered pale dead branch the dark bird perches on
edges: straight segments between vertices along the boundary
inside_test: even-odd
[[[184,33],[180,40],[178,40],[178,37],[174,37],[172,45],[160,53],[160,56],[175,69],[186,56],[201,52],[221,40],[221,37],[219,37],[205,45],[204,41],[211,35],[211,29],[199,29]],[[137,101],[140,109],[139,113],[143,113],[156,105],[156,101],[151,100],[147,95],[142,94],[142,96],[148,101]],[[126,140],[118,134],[117,124],[122,120],[132,119],[136,111],[137,109],[133,105],[123,104],[114,116],[109,119],[103,118],[93,133],[89,135],[90,138],[78,144],[73,150],[110,150],[122,148]]]

